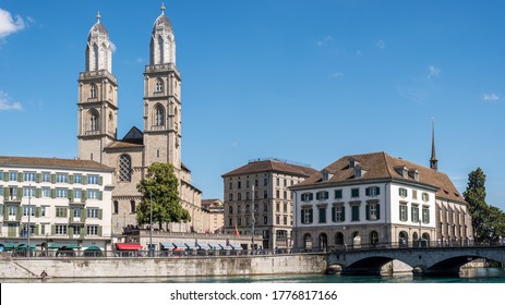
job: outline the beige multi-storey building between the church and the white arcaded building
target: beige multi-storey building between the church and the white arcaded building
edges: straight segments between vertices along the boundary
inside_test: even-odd
[[[263,249],[290,248],[293,206],[289,187],[314,172],[308,166],[265,159],[224,174],[225,232],[260,235],[263,242],[254,244]]]

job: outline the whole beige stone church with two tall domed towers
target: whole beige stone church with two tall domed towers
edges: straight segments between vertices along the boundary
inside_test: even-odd
[[[141,200],[136,184],[154,162],[173,164],[182,205],[192,216],[192,223],[173,230],[205,230],[201,191],[191,185],[191,172],[181,161],[181,77],[176,68],[173,29],[164,5],[153,26],[149,52],[149,64],[144,71],[144,130],[132,127],[120,139],[112,46],[97,14],[87,37],[85,71],[79,77],[79,158],[116,169],[115,233],[136,224],[135,208]]]

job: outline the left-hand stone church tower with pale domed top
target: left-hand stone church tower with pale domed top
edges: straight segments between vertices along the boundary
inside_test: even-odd
[[[87,36],[85,71],[79,76],[79,158],[106,163],[104,148],[117,137],[118,85],[112,75],[112,48],[100,22]]]

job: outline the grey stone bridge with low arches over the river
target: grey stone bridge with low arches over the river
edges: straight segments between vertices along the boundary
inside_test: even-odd
[[[478,258],[505,264],[504,246],[413,247],[376,249],[337,249],[328,253],[328,266],[342,274],[378,274],[395,259],[424,276],[457,276],[459,268]]]

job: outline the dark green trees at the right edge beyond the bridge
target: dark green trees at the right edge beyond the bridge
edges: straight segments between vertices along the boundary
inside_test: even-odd
[[[468,203],[473,234],[477,241],[494,243],[505,236],[505,213],[485,202],[485,174],[481,168],[468,174],[462,194]]]

